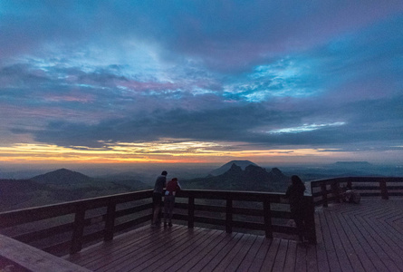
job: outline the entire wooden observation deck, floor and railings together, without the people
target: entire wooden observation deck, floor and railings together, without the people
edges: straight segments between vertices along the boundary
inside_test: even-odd
[[[0,236],[0,268],[403,271],[401,182],[363,177],[312,181],[306,244],[295,240],[283,194],[187,190],[181,195],[187,201],[178,201],[176,209],[179,225],[172,228],[150,228],[149,191],[4,212],[0,226],[7,237]],[[342,185],[360,190],[360,204],[338,201]],[[43,226],[43,220],[49,221],[46,228],[34,227],[39,221]]]

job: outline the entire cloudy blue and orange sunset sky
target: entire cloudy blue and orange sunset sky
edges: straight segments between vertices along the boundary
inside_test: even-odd
[[[0,0],[0,166],[403,163],[403,1]]]

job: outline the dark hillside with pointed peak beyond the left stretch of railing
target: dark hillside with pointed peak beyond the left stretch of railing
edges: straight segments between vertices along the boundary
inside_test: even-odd
[[[94,179],[72,170],[54,170],[29,180],[0,180],[0,212],[140,189],[149,186],[139,180]]]

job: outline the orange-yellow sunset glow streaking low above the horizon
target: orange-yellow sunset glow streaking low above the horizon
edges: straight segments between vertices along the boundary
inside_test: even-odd
[[[267,161],[280,158],[337,157],[338,153],[341,153],[320,149],[245,151],[237,150],[236,143],[197,141],[165,140],[144,143],[101,142],[101,144],[100,148],[89,148],[19,143],[11,147],[0,147],[0,161],[12,164],[216,163],[228,160]],[[239,143],[239,145],[243,144]]]

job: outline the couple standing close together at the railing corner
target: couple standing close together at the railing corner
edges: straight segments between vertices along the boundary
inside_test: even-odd
[[[167,183],[167,171],[162,171],[161,175],[158,176],[156,183],[154,185],[154,192],[152,194],[152,202],[154,205],[154,213],[152,218],[152,227],[157,227],[160,223],[159,221],[159,211],[162,203],[162,195],[164,194],[164,227],[172,227],[172,214],[175,205],[175,195],[180,188],[180,184],[177,178],[169,180]]]

